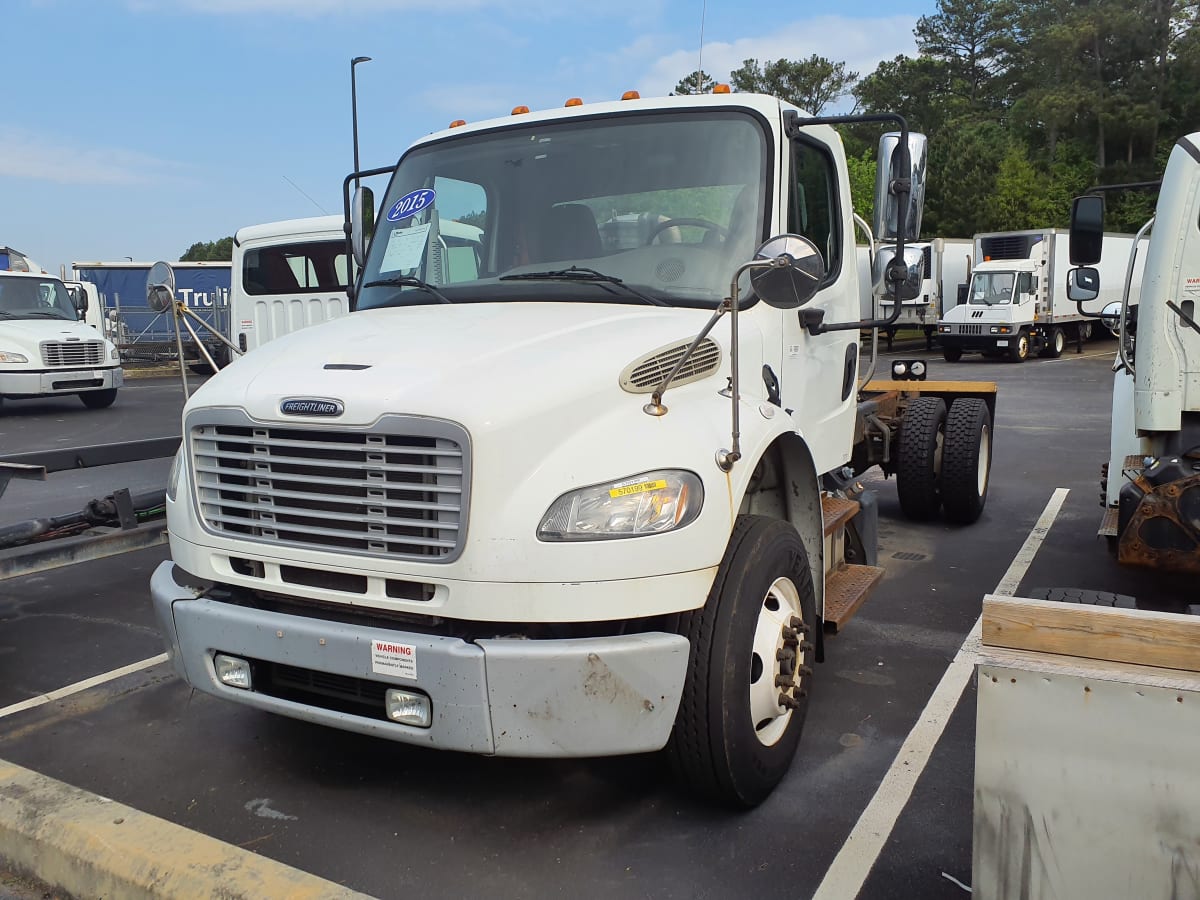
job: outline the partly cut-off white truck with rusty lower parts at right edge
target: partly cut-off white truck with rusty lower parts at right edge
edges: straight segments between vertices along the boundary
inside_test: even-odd
[[[1122,563],[1200,574],[1200,132],[1171,151],[1135,256],[1103,235],[1103,211],[1075,200],[1072,256],[1087,268],[1070,274],[1081,301],[1118,298],[1104,311],[1121,344],[1100,534]]]

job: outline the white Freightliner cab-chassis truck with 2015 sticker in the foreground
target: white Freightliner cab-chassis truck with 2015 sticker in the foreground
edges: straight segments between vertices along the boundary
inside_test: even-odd
[[[418,140],[378,227],[347,196],[355,311],[185,407],[151,581],[176,672],[413,744],[666,748],[691,790],[762,800],[882,576],[856,473],[971,522],[991,460],[994,385],[863,384],[859,329],[889,323],[859,319],[830,121],[742,94],[518,108]],[[881,157],[902,246],[924,139]],[[652,227],[601,239],[625,217]]]

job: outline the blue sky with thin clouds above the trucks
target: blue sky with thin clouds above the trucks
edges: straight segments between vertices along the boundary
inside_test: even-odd
[[[0,246],[47,271],[175,260],[242,226],[341,214],[455,119],[665,96],[702,62],[914,55],[935,0],[5,0]],[[701,35],[703,32],[703,43]],[[851,101],[852,102],[852,101]],[[844,104],[845,106],[845,104]],[[841,112],[848,112],[848,107]],[[382,192],[385,182],[377,184]]]

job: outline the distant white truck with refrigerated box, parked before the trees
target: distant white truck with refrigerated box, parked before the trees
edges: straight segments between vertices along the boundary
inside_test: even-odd
[[[1086,340],[1094,316],[1085,312],[1094,314],[1108,300],[1121,296],[1123,260],[1133,236],[1104,235],[1106,258],[1122,262],[1108,264],[1105,295],[1084,312],[1067,296],[1068,242],[1067,230],[1055,228],[977,234],[967,300],[937,323],[946,360],[956,362],[971,352],[1015,362],[1032,353],[1056,359],[1068,341]]]

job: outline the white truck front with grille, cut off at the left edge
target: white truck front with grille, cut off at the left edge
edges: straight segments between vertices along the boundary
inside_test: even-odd
[[[113,404],[119,354],[84,314],[61,280],[0,271],[0,400],[74,394],[89,409]]]

